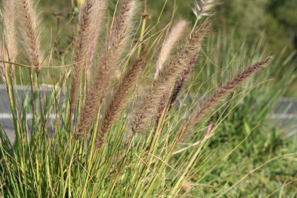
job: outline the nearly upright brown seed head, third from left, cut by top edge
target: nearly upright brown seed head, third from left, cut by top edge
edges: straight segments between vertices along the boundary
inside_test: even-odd
[[[81,13],[79,18],[78,33],[74,42],[74,56],[72,67],[72,78],[70,88],[71,110],[74,111],[79,96],[79,85],[84,70],[89,43],[94,31],[95,18],[98,14],[98,1],[85,0],[80,7]]]

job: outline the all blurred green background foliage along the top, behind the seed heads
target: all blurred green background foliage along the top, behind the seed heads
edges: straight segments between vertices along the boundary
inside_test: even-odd
[[[174,20],[183,18],[195,21],[192,12],[193,2],[194,0],[176,0]],[[286,45],[291,50],[297,48],[297,0],[218,0],[217,2],[219,5],[213,17],[214,31],[221,29],[231,34],[234,30],[237,39],[247,37],[250,43],[264,31],[268,50],[279,53]],[[115,0],[110,2],[110,10],[115,3]],[[141,12],[143,2],[138,1],[138,3]],[[147,12],[153,15],[150,24],[157,21],[164,3],[165,0],[147,0]],[[65,21],[67,14],[71,12],[71,0],[40,0],[39,4],[44,11],[44,25],[48,33],[50,27],[53,27],[53,31],[56,28],[53,12],[63,12]],[[159,28],[170,22],[174,4],[174,0],[167,1]]]

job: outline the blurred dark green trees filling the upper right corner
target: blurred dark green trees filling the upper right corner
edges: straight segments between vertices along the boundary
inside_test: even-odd
[[[284,46],[296,46],[297,0],[225,0],[218,8],[218,26],[236,27],[237,36],[246,36],[248,42],[262,31],[268,50],[278,53]]]

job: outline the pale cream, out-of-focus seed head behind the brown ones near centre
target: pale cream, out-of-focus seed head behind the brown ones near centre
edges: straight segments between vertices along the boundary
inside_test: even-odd
[[[163,44],[162,51],[156,64],[155,78],[157,77],[159,71],[162,69],[164,62],[168,59],[168,56],[170,56],[171,50],[176,45],[176,42],[182,36],[186,25],[187,22],[185,20],[180,20],[168,34],[168,37]]]

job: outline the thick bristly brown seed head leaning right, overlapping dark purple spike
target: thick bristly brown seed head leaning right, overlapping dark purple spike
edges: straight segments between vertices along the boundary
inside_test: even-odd
[[[145,96],[145,101],[141,104],[132,119],[132,130],[134,133],[145,132],[146,124],[153,118],[155,110],[158,109],[158,105],[161,103],[163,94],[171,88],[174,80],[185,69],[189,58],[199,52],[201,42],[208,27],[209,24],[206,23],[197,27],[185,39],[178,53],[164,64],[157,78],[154,80],[152,87],[147,91],[148,94]]]

